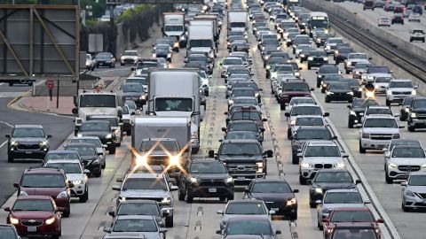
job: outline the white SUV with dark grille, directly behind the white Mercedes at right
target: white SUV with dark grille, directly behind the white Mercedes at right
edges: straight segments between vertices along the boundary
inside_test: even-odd
[[[367,116],[359,129],[359,152],[383,150],[392,139],[399,138],[401,138],[399,126],[393,116],[385,114]]]

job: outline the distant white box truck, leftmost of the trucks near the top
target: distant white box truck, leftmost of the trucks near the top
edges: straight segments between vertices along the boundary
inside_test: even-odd
[[[175,36],[180,48],[186,46],[184,12],[163,12],[162,24],[164,36]]]

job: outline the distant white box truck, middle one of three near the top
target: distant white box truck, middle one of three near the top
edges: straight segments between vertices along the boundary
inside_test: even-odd
[[[216,58],[216,44],[211,26],[188,26],[186,49],[206,54],[209,58]]]

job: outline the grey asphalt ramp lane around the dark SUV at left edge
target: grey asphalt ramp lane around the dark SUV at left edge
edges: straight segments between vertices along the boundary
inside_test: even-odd
[[[40,166],[39,160],[21,160],[18,159],[15,163],[7,162],[7,143],[4,135],[12,133],[12,127],[15,124],[41,124],[43,125],[44,132],[47,135],[52,135],[50,142],[50,149],[58,148],[69,134],[73,131],[74,123],[72,119],[61,116],[54,116],[50,114],[36,113],[36,112],[21,112],[7,108],[7,104],[12,98],[0,98],[0,175],[3,180],[0,181],[0,204],[4,204],[8,197],[10,197],[16,190],[13,188],[13,182],[20,181],[22,172],[30,166]]]

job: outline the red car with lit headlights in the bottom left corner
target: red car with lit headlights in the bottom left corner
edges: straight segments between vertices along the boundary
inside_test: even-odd
[[[16,198],[9,212],[7,223],[16,227],[22,236],[51,235],[57,239],[61,235],[60,211],[55,201],[48,196],[21,196]]]

